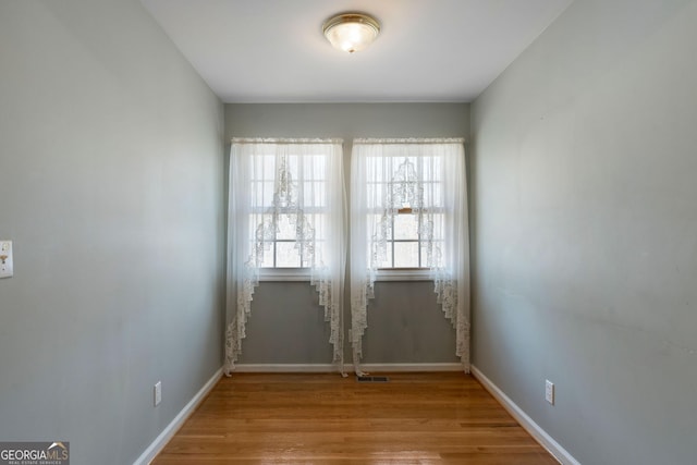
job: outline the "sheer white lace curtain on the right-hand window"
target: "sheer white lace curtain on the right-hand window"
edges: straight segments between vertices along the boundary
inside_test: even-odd
[[[456,331],[469,371],[469,245],[463,139],[355,139],[351,164],[351,333],[360,372],[363,335],[376,274],[394,217],[417,216],[423,267]]]

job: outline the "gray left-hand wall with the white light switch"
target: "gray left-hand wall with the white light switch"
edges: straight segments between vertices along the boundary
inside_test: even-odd
[[[222,103],[136,0],[0,1],[0,440],[133,463],[222,363]]]

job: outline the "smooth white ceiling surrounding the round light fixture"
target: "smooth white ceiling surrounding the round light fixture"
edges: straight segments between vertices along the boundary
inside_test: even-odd
[[[476,98],[573,0],[142,0],[225,102]],[[346,11],[378,40],[348,54],[322,36]]]

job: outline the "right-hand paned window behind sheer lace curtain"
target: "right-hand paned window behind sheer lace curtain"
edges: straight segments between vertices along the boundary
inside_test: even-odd
[[[363,250],[369,273],[448,268],[449,231],[466,221],[457,198],[464,185],[460,139],[355,140],[352,247]]]

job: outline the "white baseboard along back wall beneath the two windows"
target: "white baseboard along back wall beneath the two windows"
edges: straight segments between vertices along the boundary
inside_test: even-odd
[[[463,371],[462,364],[362,364],[364,371]],[[353,364],[345,364],[346,372],[355,371]],[[234,372],[338,372],[334,364],[239,364]]]

